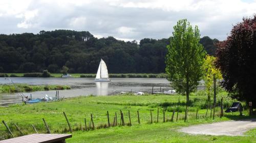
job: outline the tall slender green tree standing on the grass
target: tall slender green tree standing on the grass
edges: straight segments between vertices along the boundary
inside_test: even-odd
[[[173,37],[167,45],[165,71],[167,79],[177,92],[185,94],[189,103],[189,93],[197,89],[203,76],[205,50],[199,43],[198,26],[193,27],[186,19],[179,20],[174,26]]]

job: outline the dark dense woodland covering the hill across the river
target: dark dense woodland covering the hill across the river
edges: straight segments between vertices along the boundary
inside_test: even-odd
[[[218,42],[209,37],[200,40],[210,55],[215,54]],[[96,73],[102,58],[110,73],[164,73],[167,44],[169,39],[124,42],[70,30],[0,35],[0,72],[47,69],[59,73],[62,66],[67,66],[69,73]]]

